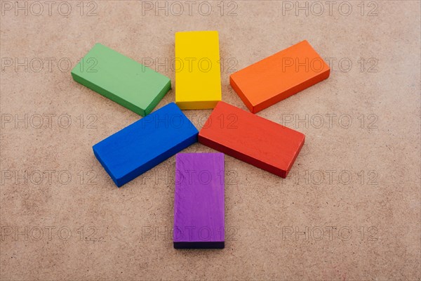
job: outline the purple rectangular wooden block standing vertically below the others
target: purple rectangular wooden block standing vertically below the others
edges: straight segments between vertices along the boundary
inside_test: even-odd
[[[225,247],[224,154],[175,156],[175,249]]]

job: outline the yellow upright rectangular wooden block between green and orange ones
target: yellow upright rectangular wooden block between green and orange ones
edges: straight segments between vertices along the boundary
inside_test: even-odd
[[[218,32],[176,32],[175,103],[182,110],[209,109],[221,98]]]

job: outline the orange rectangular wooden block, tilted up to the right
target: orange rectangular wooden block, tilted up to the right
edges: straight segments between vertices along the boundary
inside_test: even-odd
[[[330,68],[307,41],[231,74],[229,84],[250,112],[274,105],[329,77]]]

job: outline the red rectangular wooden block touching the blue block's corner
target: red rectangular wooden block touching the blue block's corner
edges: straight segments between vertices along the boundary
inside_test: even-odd
[[[199,143],[286,178],[304,134],[220,101],[199,132]]]

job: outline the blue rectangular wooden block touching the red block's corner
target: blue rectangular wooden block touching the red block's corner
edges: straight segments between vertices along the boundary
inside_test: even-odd
[[[93,152],[118,187],[196,143],[197,129],[175,103],[93,145]]]

